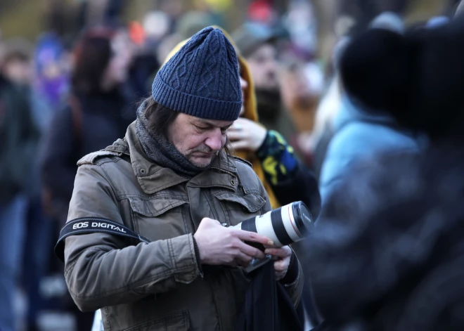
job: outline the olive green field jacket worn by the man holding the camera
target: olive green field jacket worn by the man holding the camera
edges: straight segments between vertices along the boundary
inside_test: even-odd
[[[202,266],[193,233],[204,217],[230,226],[270,210],[249,164],[221,152],[187,179],[147,160],[135,122],[124,140],[78,163],[67,221],[110,219],[152,242],[106,233],[65,240],[65,278],[82,311],[102,308],[105,330],[233,330],[249,282],[243,268]],[[299,301],[303,275],[285,285]]]

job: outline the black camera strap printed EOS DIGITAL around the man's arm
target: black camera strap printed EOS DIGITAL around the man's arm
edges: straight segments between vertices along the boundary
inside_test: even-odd
[[[134,239],[137,242],[150,242],[145,237],[132,231],[127,226],[111,221],[110,219],[101,219],[98,217],[83,217],[67,222],[60,231],[60,238],[55,246],[55,254],[60,261],[65,261],[65,238],[70,235],[87,235],[90,233],[109,233],[110,235],[119,235],[128,239]]]

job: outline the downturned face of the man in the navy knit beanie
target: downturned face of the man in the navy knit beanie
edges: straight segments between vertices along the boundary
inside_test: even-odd
[[[167,138],[188,161],[206,168],[226,144],[227,129],[232,124],[180,113],[167,129]]]

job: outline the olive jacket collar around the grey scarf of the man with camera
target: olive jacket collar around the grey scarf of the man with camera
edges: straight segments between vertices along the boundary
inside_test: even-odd
[[[134,174],[146,194],[157,193],[165,188],[186,182],[188,182],[188,186],[193,187],[221,187],[234,191],[238,187],[236,162],[225,152],[219,153],[219,157],[213,161],[210,169],[202,171],[191,179],[148,160],[136,136],[136,122],[127,128],[124,140],[119,139],[106,149],[129,155]]]

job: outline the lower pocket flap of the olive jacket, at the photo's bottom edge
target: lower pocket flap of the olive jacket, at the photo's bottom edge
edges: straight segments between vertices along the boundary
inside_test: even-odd
[[[190,330],[188,311],[180,311],[168,316],[149,320],[146,323],[129,327],[124,331],[186,331]]]

